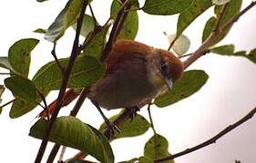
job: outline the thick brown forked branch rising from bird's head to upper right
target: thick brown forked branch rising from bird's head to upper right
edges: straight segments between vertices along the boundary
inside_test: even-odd
[[[241,15],[245,14],[246,12],[248,12],[254,5],[256,5],[256,1],[251,2],[251,5],[248,5],[246,8],[244,8],[240,14],[237,14],[236,16],[234,16],[230,22],[228,22],[227,24],[224,24],[222,26],[219,26],[218,24],[220,24],[220,19],[221,16],[219,16],[217,18],[217,22],[216,22],[216,27],[219,26],[219,29],[214,29],[212,31],[212,33],[210,34],[209,38],[200,45],[200,48],[194,52],[185,62],[183,62],[183,67],[184,70],[186,68],[189,67],[190,64],[192,64],[193,62],[197,61],[201,56],[203,56],[205,53],[207,53],[210,44],[213,43],[216,38],[218,38],[220,36],[220,34],[222,34],[223,32],[226,31],[226,29],[230,28],[232,24],[234,24],[236,21],[239,20],[239,18],[241,17]],[[224,11],[224,8],[222,10],[222,12]],[[221,13],[220,13],[221,15]]]

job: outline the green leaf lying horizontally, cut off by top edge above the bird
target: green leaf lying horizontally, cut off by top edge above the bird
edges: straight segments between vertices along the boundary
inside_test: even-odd
[[[183,12],[193,0],[146,0],[142,10],[148,14],[170,15]]]

